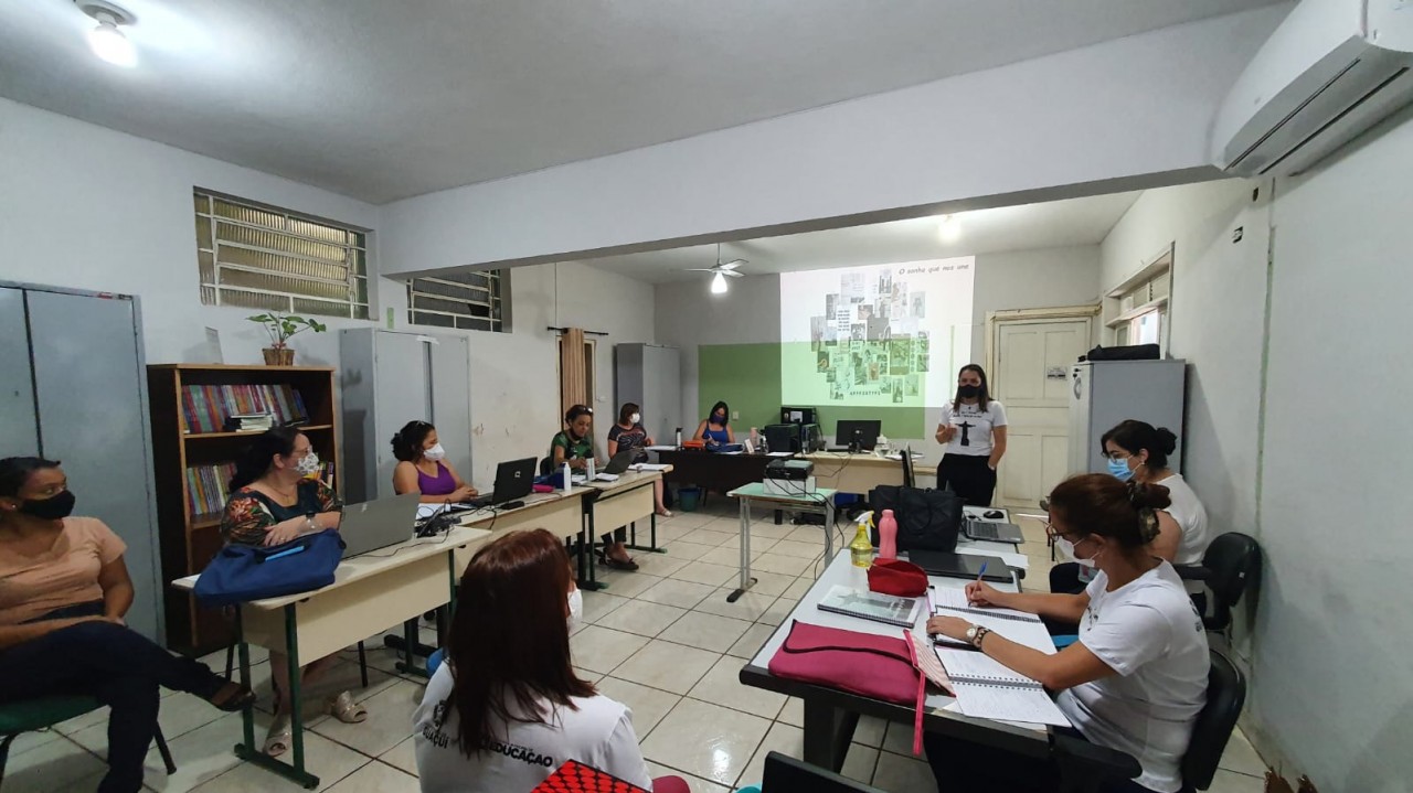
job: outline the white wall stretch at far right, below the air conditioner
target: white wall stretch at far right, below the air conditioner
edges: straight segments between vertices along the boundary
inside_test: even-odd
[[[1413,111],[1379,133],[1276,190],[1248,706],[1289,779],[1361,793],[1413,779]]]

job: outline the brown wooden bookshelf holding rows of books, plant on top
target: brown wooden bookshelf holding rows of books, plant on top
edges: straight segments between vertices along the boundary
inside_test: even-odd
[[[218,610],[196,605],[189,594],[172,590],[174,579],[199,573],[220,550],[220,512],[192,514],[187,468],[229,463],[259,432],[199,432],[189,428],[182,394],[189,385],[288,385],[304,401],[307,422],[300,430],[319,460],[335,463],[335,488],[343,477],[338,454],[339,412],[332,367],[261,367],[218,364],[153,364],[147,367],[151,405],[153,467],[157,523],[161,538],[167,645],[202,655],[233,641],[230,624]]]

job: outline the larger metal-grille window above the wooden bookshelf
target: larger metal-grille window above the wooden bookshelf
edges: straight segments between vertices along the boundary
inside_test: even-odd
[[[367,319],[360,229],[195,190],[201,302]]]

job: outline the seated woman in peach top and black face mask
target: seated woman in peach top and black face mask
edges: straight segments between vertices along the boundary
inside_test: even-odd
[[[0,460],[0,704],[89,696],[112,708],[100,793],[140,790],[157,730],[158,686],[225,711],[254,701],[206,665],[130,631],[126,546],[102,521],[73,518],[58,463]]]

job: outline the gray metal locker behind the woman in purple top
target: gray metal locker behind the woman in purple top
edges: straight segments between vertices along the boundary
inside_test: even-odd
[[[343,487],[350,502],[393,495],[393,435],[437,425],[447,461],[471,478],[471,341],[400,330],[339,332]]]

